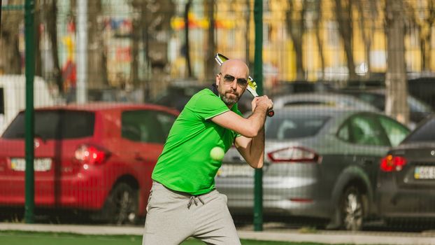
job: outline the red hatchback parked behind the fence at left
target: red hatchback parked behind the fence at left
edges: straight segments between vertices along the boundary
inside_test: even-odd
[[[90,211],[110,223],[145,215],[151,172],[178,111],[85,104],[35,111],[35,207]],[[24,112],[0,138],[0,209],[24,207]]]

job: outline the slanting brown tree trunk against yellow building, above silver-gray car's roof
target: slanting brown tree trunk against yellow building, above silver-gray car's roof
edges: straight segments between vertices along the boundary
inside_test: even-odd
[[[353,59],[352,48],[352,1],[353,0],[335,0],[338,31],[340,32],[341,40],[344,45],[350,80],[357,77],[357,74],[355,73],[355,61]]]

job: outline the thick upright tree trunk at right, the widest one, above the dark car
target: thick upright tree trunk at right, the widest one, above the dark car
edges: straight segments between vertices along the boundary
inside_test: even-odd
[[[402,0],[387,0],[385,4],[385,32],[387,36],[387,74],[385,75],[387,115],[407,124],[409,108],[406,97],[404,4]]]

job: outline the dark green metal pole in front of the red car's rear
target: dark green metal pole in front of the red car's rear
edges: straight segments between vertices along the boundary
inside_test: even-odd
[[[34,188],[34,76],[35,76],[35,30],[34,0],[26,0],[24,4],[25,23],[25,74],[26,74],[26,111],[25,111],[25,204],[24,221],[34,223],[35,188]]]

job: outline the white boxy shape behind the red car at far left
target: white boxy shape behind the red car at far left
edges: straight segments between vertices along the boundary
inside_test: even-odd
[[[55,105],[43,78],[34,77],[34,107]],[[26,108],[26,77],[0,75],[0,135],[17,113]]]

